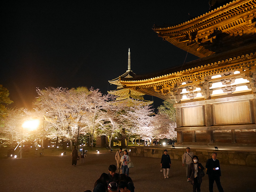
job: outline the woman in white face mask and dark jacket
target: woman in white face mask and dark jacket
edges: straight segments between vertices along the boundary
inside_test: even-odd
[[[193,163],[190,164],[190,169],[188,171],[188,179],[191,181],[191,184],[193,185],[193,192],[200,192],[200,186],[202,183],[202,177],[199,175],[199,169],[204,170],[204,167],[201,163],[198,162],[198,157],[194,155],[192,157]]]

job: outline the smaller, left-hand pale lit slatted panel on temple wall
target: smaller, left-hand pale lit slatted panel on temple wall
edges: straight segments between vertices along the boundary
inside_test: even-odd
[[[203,107],[182,108],[182,125],[204,125]]]

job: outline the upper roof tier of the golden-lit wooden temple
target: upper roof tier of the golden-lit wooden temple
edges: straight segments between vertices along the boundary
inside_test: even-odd
[[[154,26],[159,37],[200,58],[256,43],[256,0],[236,0],[182,24]]]

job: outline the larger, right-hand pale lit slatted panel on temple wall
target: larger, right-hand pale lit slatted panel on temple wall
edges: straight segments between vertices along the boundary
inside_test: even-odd
[[[214,120],[217,124],[251,123],[250,102],[215,104]]]

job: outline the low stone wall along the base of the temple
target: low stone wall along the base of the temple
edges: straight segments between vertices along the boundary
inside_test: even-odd
[[[183,149],[167,149],[171,159],[182,161]],[[206,162],[210,159],[212,152],[217,153],[217,159],[220,164],[256,166],[256,152],[239,151],[213,151],[213,150],[192,150],[194,155],[198,156],[200,162]],[[131,147],[131,156],[155,157],[161,158],[164,149],[154,147]]]

